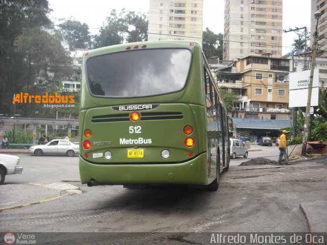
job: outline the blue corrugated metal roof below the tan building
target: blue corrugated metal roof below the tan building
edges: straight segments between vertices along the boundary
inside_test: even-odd
[[[269,119],[250,119],[250,118],[233,118],[237,129],[272,129],[279,130],[290,128],[289,120],[269,120]]]

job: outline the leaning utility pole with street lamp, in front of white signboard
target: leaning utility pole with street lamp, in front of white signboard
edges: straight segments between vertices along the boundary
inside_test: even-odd
[[[316,53],[317,53],[317,37],[318,37],[318,20],[321,16],[319,11],[315,12],[315,19],[317,20],[316,23],[316,31],[313,35],[313,44],[312,44],[312,61],[310,67],[310,81],[309,81],[309,89],[308,89],[308,102],[306,108],[306,115],[305,115],[305,125],[303,127],[303,140],[302,140],[302,150],[301,156],[305,156],[307,152],[307,140],[308,140],[308,128],[310,122],[310,104],[311,104],[311,92],[312,92],[312,83],[313,83],[313,72],[316,65]]]

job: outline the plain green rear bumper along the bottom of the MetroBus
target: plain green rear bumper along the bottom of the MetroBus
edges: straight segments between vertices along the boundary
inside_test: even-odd
[[[93,164],[79,159],[82,184],[207,184],[206,153],[174,164]]]

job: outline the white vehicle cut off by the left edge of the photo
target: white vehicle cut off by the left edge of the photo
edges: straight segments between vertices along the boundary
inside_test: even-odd
[[[22,167],[19,166],[19,157],[0,154],[0,185],[5,182],[6,175],[21,174]]]

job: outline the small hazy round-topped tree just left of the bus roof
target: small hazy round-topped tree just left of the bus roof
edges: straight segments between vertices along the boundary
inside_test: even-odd
[[[86,23],[82,24],[75,19],[68,19],[60,24],[60,28],[69,50],[72,51],[74,48],[90,48],[91,37]]]

